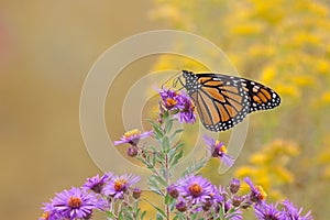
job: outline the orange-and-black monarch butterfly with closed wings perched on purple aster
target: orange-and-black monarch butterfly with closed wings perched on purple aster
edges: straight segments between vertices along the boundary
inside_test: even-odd
[[[280,103],[273,89],[245,78],[188,70],[183,70],[183,77],[185,81],[182,77],[177,81],[193,99],[205,128],[213,132],[231,129],[250,112],[273,109]]]

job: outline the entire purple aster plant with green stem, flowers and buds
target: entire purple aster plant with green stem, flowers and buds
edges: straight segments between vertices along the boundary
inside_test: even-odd
[[[168,186],[172,182],[170,169],[183,156],[183,151],[179,151],[177,146],[170,151],[169,147],[164,147],[162,151],[155,152],[153,148],[146,148],[143,144],[140,146],[139,143],[142,139],[153,135],[162,146],[168,146],[169,143],[165,144],[164,140],[168,141],[166,135],[172,128],[173,118],[178,119],[182,123],[194,123],[196,112],[191,99],[185,92],[163,88],[160,89],[160,118],[158,123],[152,123],[153,130],[128,131],[119,141],[114,141],[114,145],[129,144],[128,155],[138,156],[138,160],[153,172],[150,177],[150,180],[152,179],[150,188],[165,198],[166,213],[162,212],[163,217],[170,219],[170,212],[176,212],[184,219],[195,216],[193,219],[198,217],[197,219],[242,220],[242,210],[252,208],[258,220],[314,219],[310,211],[302,216],[302,209],[296,208],[288,200],[280,204],[282,208],[278,204],[267,204],[267,195],[263,187],[254,185],[249,177],[244,179],[250,187],[250,191],[245,195],[240,193],[241,182],[235,178],[231,179],[227,187],[223,187],[215,186],[208,179],[190,174]],[[169,116],[173,118],[170,119]],[[174,134],[176,133],[177,131],[174,132]],[[227,154],[227,147],[222,142],[207,135],[204,136],[204,140],[208,146],[208,157],[202,163],[208,162],[210,157],[216,157],[227,166],[233,165],[234,160]],[[158,167],[165,172],[160,173],[156,169]],[[201,166],[197,167],[200,169]],[[198,169],[190,173],[198,173]],[[113,175],[112,173],[87,178],[81,187],[63,190],[56,194],[50,202],[44,204],[40,220],[88,220],[92,218],[96,210],[106,212],[109,219],[139,219],[139,215],[143,219],[146,211],[141,212],[139,207],[142,190],[133,187],[139,180],[140,177],[132,174]],[[161,185],[168,187],[161,189]],[[155,208],[160,211],[160,208]]]

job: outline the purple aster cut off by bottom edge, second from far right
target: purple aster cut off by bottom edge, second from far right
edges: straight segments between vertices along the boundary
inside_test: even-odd
[[[256,204],[254,205],[254,210],[258,220],[283,220],[283,218],[280,218],[280,212],[277,210],[277,204]]]

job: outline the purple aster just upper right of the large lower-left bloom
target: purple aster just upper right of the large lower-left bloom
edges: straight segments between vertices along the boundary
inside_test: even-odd
[[[105,187],[103,193],[116,199],[122,199],[123,195],[129,190],[129,188],[140,180],[140,176],[134,176],[132,174],[114,176]]]

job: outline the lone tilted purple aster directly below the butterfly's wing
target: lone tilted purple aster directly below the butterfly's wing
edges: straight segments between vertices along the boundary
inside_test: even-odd
[[[208,151],[212,157],[218,157],[227,166],[233,165],[234,160],[227,154],[227,147],[222,142],[216,141],[208,135],[204,135],[204,141],[209,146]]]

